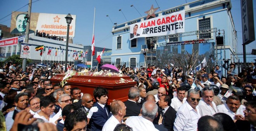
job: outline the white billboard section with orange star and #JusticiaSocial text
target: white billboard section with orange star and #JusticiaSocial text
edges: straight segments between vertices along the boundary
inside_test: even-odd
[[[46,34],[66,37],[67,36],[67,15],[39,13],[36,30]],[[74,37],[76,29],[76,15],[71,15],[73,20],[69,25],[69,37]]]

